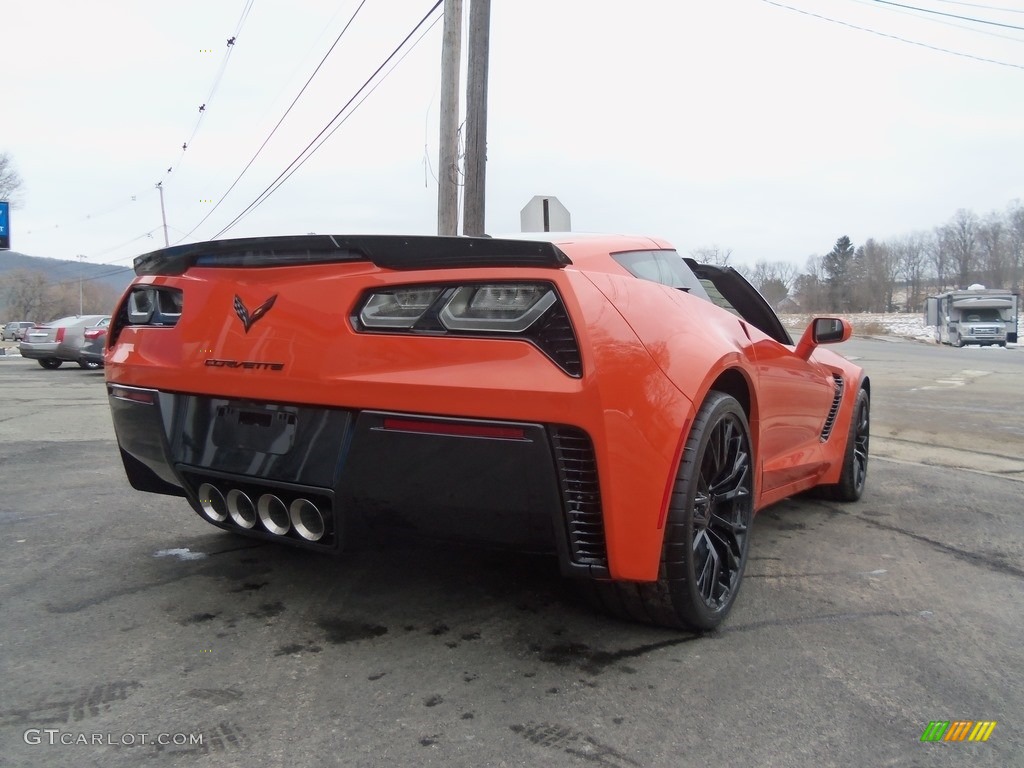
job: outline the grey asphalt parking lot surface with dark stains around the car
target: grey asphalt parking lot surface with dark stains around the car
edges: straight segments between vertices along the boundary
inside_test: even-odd
[[[102,372],[0,358],[0,765],[1024,765],[1024,350],[839,349],[864,498],[762,512],[705,636],[540,556],[222,532],[129,487]]]

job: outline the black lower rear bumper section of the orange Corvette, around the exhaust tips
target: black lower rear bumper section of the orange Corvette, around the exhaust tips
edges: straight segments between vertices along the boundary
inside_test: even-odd
[[[108,391],[131,484],[183,496],[219,527],[335,551],[366,525],[553,551],[568,574],[608,575],[596,456],[578,427]],[[313,508],[322,529],[302,522]]]

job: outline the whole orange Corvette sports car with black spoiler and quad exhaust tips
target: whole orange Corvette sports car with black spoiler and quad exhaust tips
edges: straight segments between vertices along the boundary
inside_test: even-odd
[[[611,612],[709,630],[754,514],[864,488],[869,382],[660,240],[308,236],[135,260],[106,387],[125,471],[323,552],[366,526],[555,553]]]

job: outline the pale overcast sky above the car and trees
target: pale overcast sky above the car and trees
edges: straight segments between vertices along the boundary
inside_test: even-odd
[[[25,180],[13,250],[130,264],[163,246],[161,180],[171,243],[215,236],[433,0],[366,0],[191,231],[358,4],[255,0],[211,96],[246,0],[0,0],[0,153]],[[841,234],[1024,199],[1024,2],[903,4],[1009,27],[878,0],[493,0],[487,231],[518,231],[546,195],[575,230],[803,266]],[[441,27],[222,237],[436,231]]]

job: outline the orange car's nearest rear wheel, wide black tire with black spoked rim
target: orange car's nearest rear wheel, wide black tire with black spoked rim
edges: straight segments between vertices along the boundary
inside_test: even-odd
[[[746,415],[735,398],[711,392],[676,472],[657,581],[595,581],[585,589],[593,602],[621,618],[713,630],[739,591],[753,516]]]

